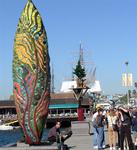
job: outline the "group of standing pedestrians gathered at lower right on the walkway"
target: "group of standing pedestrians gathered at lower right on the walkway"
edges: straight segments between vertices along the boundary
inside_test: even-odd
[[[122,106],[104,110],[98,107],[92,115],[93,148],[102,150],[107,127],[110,150],[137,150],[137,111]]]

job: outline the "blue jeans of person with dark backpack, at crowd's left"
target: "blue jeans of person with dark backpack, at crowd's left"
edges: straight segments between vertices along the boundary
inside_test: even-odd
[[[97,143],[98,143],[98,149],[103,149],[103,142],[104,142],[104,127],[96,128],[97,130]]]

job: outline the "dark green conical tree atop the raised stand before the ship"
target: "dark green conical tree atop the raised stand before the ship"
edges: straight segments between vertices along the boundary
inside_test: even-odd
[[[73,71],[73,74],[75,74],[80,80],[83,80],[83,78],[86,77],[85,68],[82,67],[80,60],[78,60],[78,63]]]

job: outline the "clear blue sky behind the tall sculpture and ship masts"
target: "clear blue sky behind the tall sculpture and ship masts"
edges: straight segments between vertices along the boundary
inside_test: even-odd
[[[18,19],[27,0],[1,0],[0,4],[0,99],[12,94],[13,42]],[[121,75],[129,72],[137,81],[136,0],[33,0],[45,25],[55,87],[71,78],[72,62],[80,42],[85,61],[97,67],[105,94],[122,93]]]

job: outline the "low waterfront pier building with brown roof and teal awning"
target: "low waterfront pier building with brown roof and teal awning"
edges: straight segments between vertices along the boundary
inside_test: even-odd
[[[88,115],[90,110],[89,98],[84,97],[81,105],[84,109],[84,115]],[[75,99],[73,93],[51,94],[47,123],[54,123],[57,119],[61,121],[77,121],[77,111],[78,101]],[[14,100],[0,101],[0,119],[6,122],[8,120],[17,120]]]

